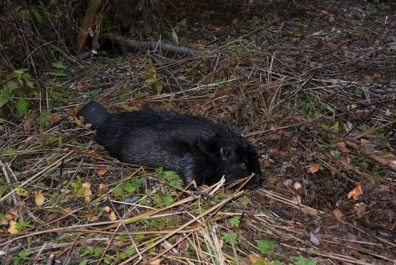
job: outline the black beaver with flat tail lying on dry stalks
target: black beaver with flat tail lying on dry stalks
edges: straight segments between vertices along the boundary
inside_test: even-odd
[[[246,139],[229,126],[204,117],[142,110],[110,114],[90,101],[76,114],[96,129],[95,140],[121,162],[164,167],[188,185],[214,184],[224,175],[233,182],[255,173],[246,184],[261,184],[258,155]],[[190,186],[193,188],[193,185]]]

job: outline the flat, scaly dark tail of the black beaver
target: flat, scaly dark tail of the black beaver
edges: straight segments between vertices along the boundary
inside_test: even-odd
[[[78,119],[81,119],[81,117],[84,119],[84,124],[91,124],[93,130],[100,128],[110,116],[110,112],[96,101],[90,101],[76,114]]]

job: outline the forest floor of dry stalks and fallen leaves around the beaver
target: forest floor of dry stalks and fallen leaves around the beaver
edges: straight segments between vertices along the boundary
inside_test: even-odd
[[[77,61],[59,48],[49,67],[32,63],[38,78],[10,72],[3,90],[34,88],[0,112],[2,263],[395,264],[396,8],[355,4],[240,6],[245,18],[229,21],[226,7],[177,12],[177,45],[200,55]],[[263,185],[192,200],[175,174],[122,164],[93,140],[75,119],[92,99],[240,128]]]

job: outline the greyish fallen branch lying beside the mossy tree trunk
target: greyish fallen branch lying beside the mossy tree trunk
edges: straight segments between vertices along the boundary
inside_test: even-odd
[[[177,54],[184,57],[196,56],[199,54],[198,50],[191,50],[188,48],[183,48],[175,46],[173,44],[166,44],[161,42],[137,42],[136,40],[131,40],[129,38],[125,38],[123,36],[113,33],[104,33],[102,35],[102,38],[111,40],[114,44],[119,44],[133,50],[160,50],[164,53]]]

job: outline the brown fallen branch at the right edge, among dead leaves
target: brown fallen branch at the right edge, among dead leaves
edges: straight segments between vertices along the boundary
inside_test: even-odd
[[[335,133],[329,133],[329,134],[334,139],[337,139],[339,141],[344,141],[345,144],[348,145],[349,147],[359,150],[361,153],[369,156],[369,158],[377,161],[381,165],[389,168],[392,172],[396,173],[396,160],[394,158],[384,156],[385,153],[375,150],[373,147],[362,143],[358,139],[349,136],[343,137]]]

